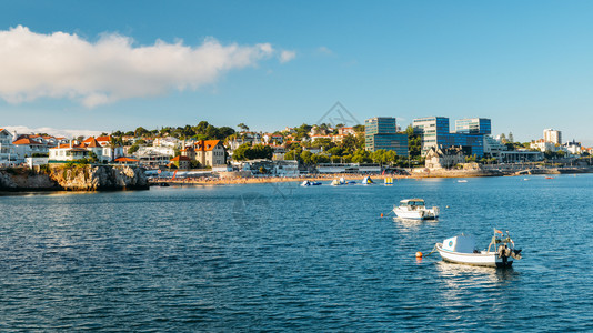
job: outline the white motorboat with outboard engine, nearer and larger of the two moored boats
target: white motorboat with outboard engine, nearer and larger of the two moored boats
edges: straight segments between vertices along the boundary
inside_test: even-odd
[[[478,250],[475,240],[471,235],[456,235],[436,243],[436,251],[444,261],[491,268],[511,268],[513,260],[521,259],[521,250],[515,250],[515,243],[509,235],[494,229],[492,241],[485,250]]]

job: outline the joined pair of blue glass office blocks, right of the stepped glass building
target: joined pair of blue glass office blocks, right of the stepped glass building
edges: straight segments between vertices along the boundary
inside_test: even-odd
[[[422,154],[431,147],[461,145],[472,155],[484,155],[484,135],[490,134],[490,119],[473,118],[455,122],[456,132],[450,132],[449,118],[426,117],[414,119],[414,132],[422,135]],[[461,132],[460,132],[461,131]]]

